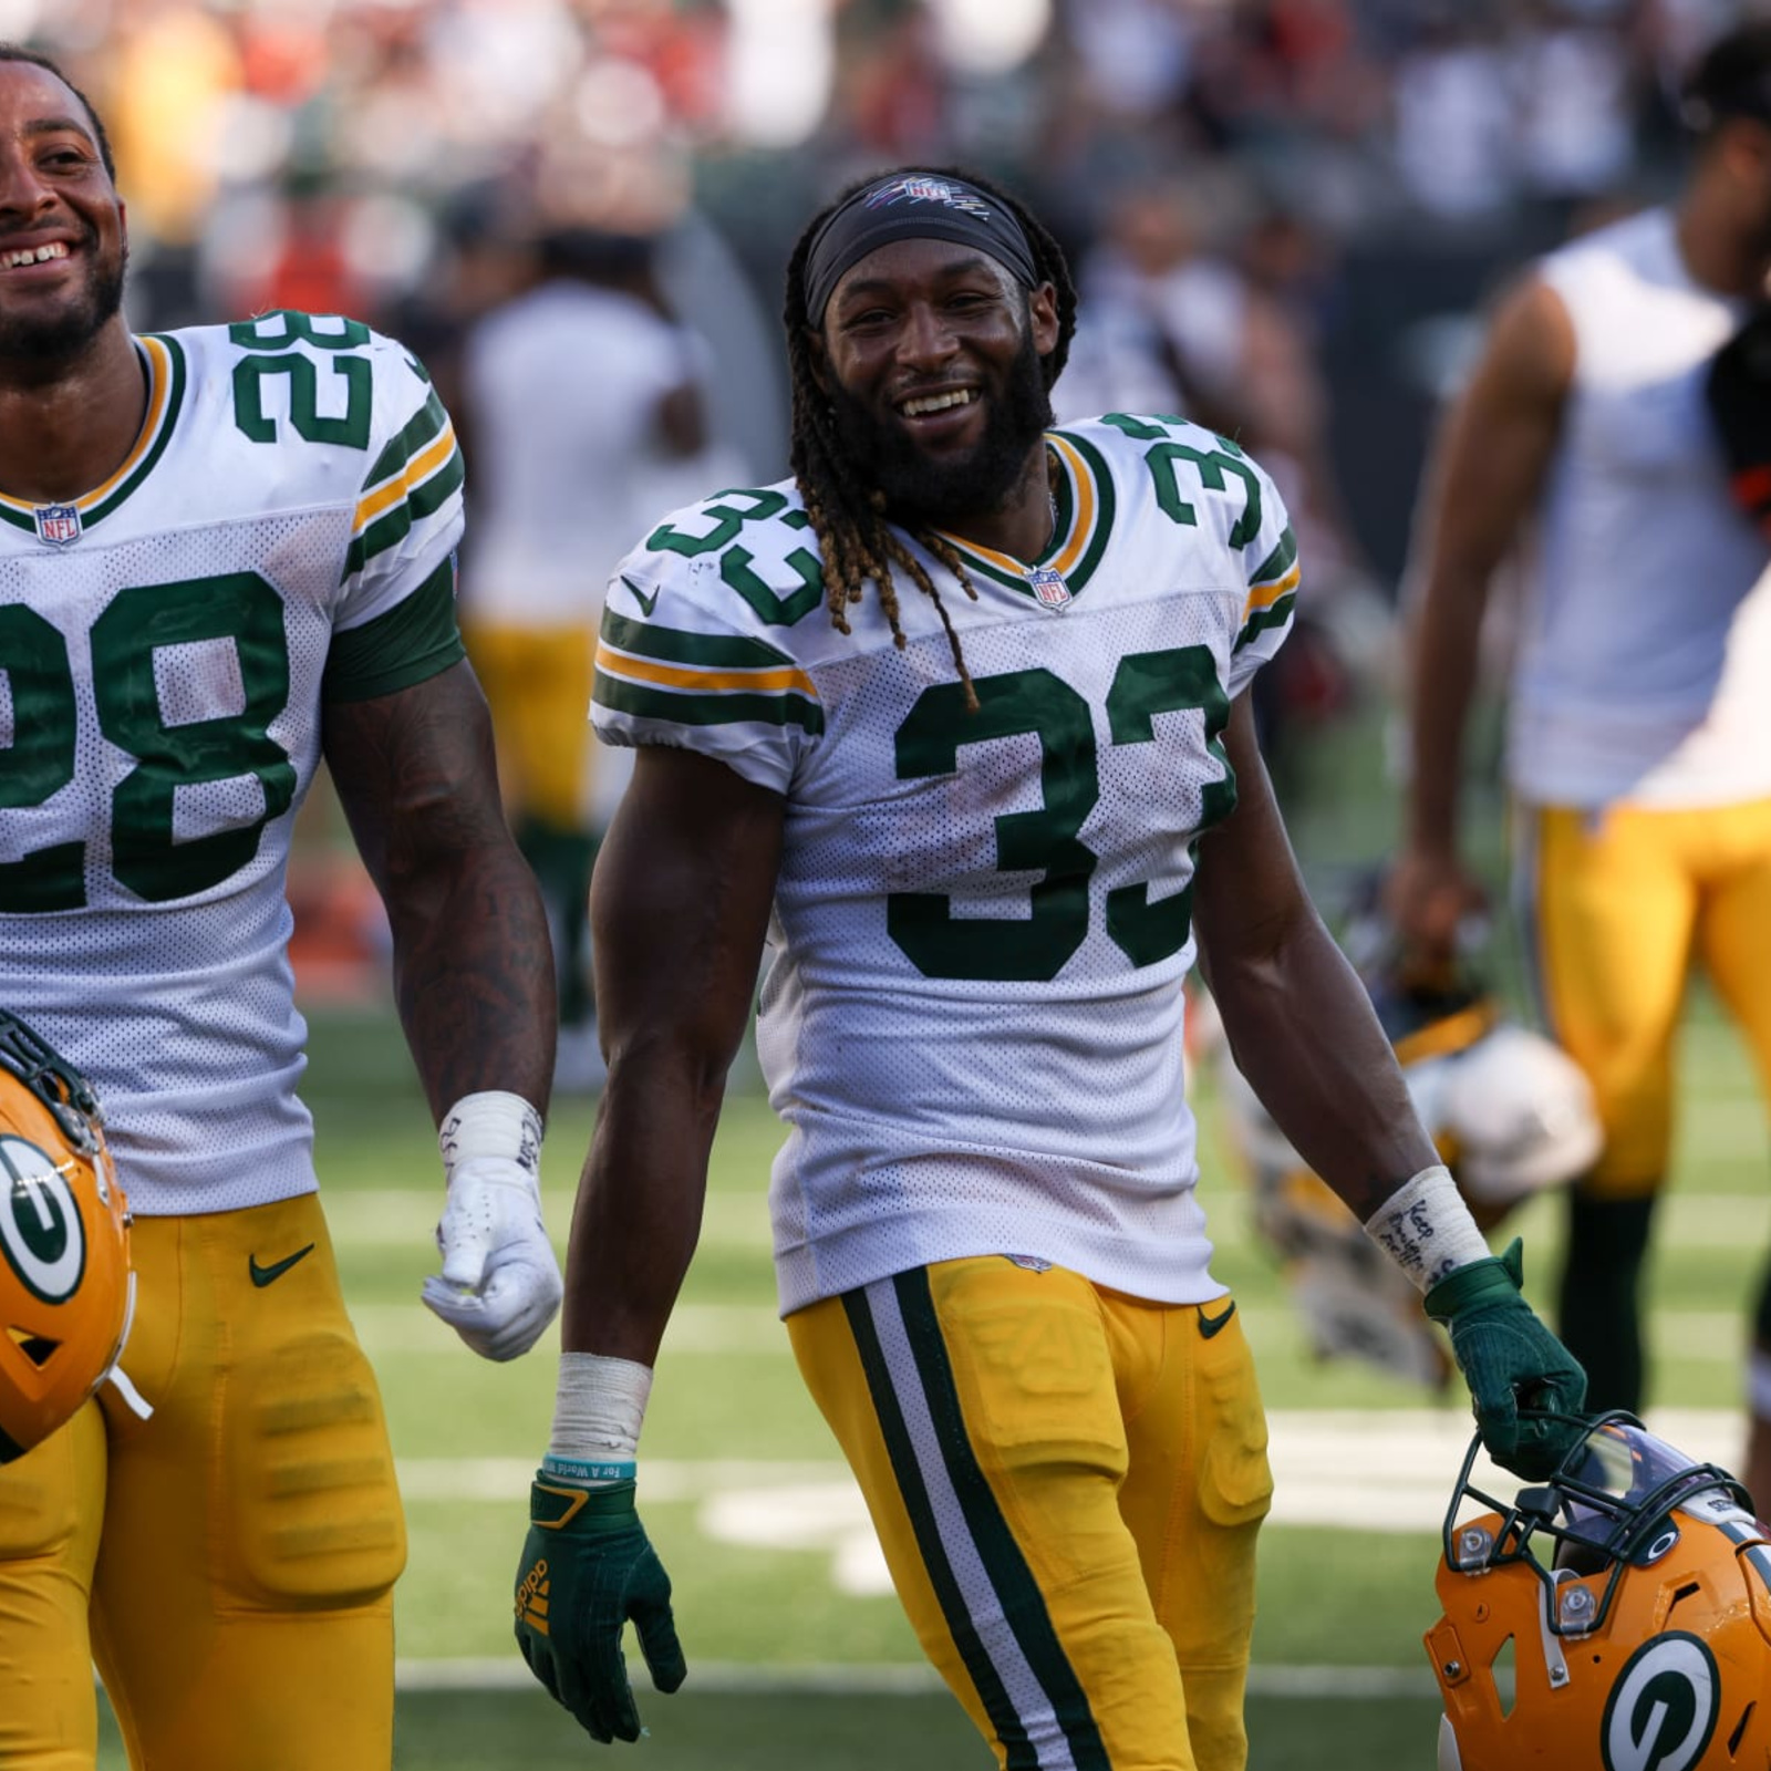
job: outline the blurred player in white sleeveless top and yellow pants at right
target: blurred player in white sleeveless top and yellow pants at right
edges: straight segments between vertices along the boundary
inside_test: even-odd
[[[1693,69],[1679,200],[1551,253],[1496,312],[1449,413],[1420,561],[1403,933],[1445,955],[1479,903],[1458,832],[1489,584],[1525,553],[1509,682],[1514,894],[1551,1036],[1605,1149],[1573,1192],[1560,1330],[1597,1408],[1643,1401],[1642,1266],[1693,962],[1771,1091],[1771,576],[1704,402],[1771,271],[1771,23]],[[1746,1484],[1771,1507],[1771,1272]]]

